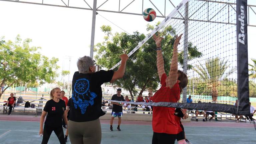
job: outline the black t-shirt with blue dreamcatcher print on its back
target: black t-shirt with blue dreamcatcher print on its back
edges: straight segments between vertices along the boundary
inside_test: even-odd
[[[101,85],[111,81],[113,74],[113,70],[100,70],[90,74],[74,73],[69,120],[86,122],[105,114],[101,109]]]

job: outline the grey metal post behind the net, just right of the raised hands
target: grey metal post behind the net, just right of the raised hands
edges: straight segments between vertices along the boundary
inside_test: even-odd
[[[185,5],[185,17],[184,17],[184,34],[183,34],[183,72],[187,74],[187,56],[188,56],[188,2]],[[179,34],[178,34],[179,35]],[[187,87],[182,91],[182,102],[186,103],[187,99]]]

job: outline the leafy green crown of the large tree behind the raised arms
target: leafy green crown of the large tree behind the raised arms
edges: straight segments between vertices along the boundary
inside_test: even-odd
[[[157,25],[158,24],[159,23],[157,23]],[[147,30],[151,30],[152,28],[154,27],[147,25]],[[101,30],[107,34],[107,37],[111,34],[111,28],[109,28],[109,26],[102,26]],[[164,36],[162,40],[162,51],[165,70],[168,74],[176,31],[170,26],[167,27],[161,35]],[[128,35],[124,32],[115,33],[111,40],[105,39],[104,42],[96,44],[97,55],[95,59],[97,60],[97,64],[110,69],[120,61],[119,56],[121,54],[132,51],[144,38],[145,35],[139,32],[134,32],[132,35]],[[189,60],[202,55],[192,44],[189,45],[189,50]],[[180,57],[179,62],[181,61],[183,61],[183,55]],[[115,70],[117,70],[117,68]],[[143,92],[147,88],[152,88],[153,91],[156,91],[159,84],[158,82],[156,44],[155,41],[150,38],[141,48],[129,57],[123,78],[115,81],[114,84],[129,91],[133,98],[133,95]],[[140,88],[141,91],[137,91],[137,88]]]

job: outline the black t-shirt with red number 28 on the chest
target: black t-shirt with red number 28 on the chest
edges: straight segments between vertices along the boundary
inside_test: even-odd
[[[55,102],[53,99],[48,100],[44,106],[44,111],[47,112],[45,125],[58,127],[62,126],[62,116],[66,110],[65,101],[60,99],[59,102]]]

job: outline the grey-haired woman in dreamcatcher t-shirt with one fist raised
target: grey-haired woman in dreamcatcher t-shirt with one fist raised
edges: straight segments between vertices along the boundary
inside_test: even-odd
[[[101,109],[101,85],[123,77],[128,56],[122,54],[120,58],[121,65],[117,71],[98,72],[91,57],[84,56],[78,59],[78,71],[74,73],[72,80],[72,101],[68,122],[71,143],[101,143],[99,117],[105,114]]]

